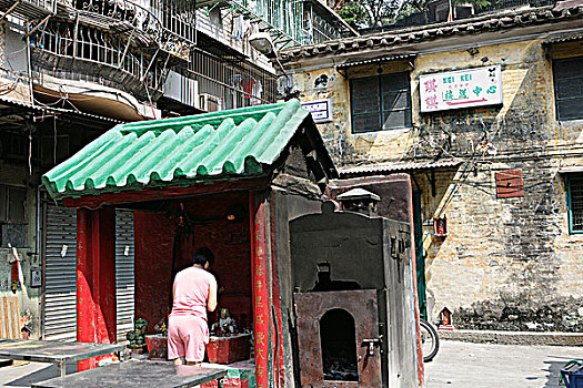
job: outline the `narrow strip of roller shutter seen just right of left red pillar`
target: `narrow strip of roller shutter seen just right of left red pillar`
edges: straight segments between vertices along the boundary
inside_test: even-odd
[[[133,212],[115,211],[118,337],[133,328]]]

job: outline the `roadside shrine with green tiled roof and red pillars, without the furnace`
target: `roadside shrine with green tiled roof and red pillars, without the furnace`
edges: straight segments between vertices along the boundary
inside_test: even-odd
[[[277,232],[291,214],[319,210],[335,176],[296,100],[108,131],[42,177],[78,208],[77,340],[115,341],[113,211],[133,210],[135,317],[149,333],[171,307],[173,275],[208,247],[224,288],[218,310],[253,333],[257,387],[293,386],[291,306],[280,298],[291,289],[278,270],[289,243]]]

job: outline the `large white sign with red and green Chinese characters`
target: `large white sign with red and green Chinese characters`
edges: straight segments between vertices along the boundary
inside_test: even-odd
[[[502,103],[500,65],[419,76],[421,112]]]

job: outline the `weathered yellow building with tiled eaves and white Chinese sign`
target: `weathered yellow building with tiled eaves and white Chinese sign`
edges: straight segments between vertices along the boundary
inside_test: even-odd
[[[341,176],[411,175],[431,321],[583,329],[582,45],[564,1],[280,53]]]

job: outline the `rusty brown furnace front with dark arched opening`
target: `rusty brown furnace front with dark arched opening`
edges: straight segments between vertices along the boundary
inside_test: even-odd
[[[302,387],[379,388],[376,290],[294,294]]]

